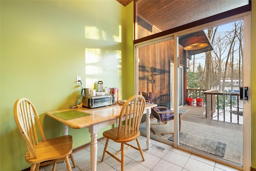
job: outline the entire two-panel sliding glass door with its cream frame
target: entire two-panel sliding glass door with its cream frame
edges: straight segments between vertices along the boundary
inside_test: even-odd
[[[250,103],[238,97],[239,87],[250,86],[250,68],[243,67],[250,61],[248,18],[240,15],[135,45],[135,93],[152,92],[152,102],[175,112],[174,121],[158,126],[174,134],[151,132],[151,138],[233,166],[249,161]],[[200,44],[191,42],[197,38]]]

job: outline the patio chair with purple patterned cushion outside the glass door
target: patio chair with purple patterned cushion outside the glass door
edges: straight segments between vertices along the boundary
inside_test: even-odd
[[[142,95],[144,96],[145,99],[148,99],[149,103],[153,103],[152,99],[154,97],[153,93],[143,91]],[[170,134],[173,132],[165,132],[165,131],[159,131],[157,130],[154,126],[152,125],[166,125],[168,121],[174,120],[174,111],[168,109],[167,107],[164,106],[157,106],[157,107],[152,107],[152,115],[157,119],[158,123],[150,123],[150,128],[154,133],[157,134]],[[181,113],[179,113],[179,132],[181,129]]]

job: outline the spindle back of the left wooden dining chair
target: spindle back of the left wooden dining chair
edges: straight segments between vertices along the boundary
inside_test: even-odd
[[[46,141],[46,138],[36,108],[29,99],[21,98],[14,103],[14,118],[19,131],[26,142],[29,155],[37,158],[34,150],[34,147],[38,144],[37,126],[43,141]]]

